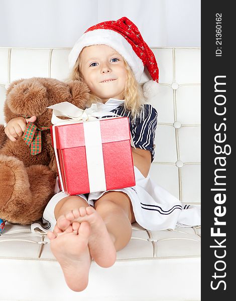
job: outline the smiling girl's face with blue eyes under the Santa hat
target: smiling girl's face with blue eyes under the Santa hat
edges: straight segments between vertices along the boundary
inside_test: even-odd
[[[80,63],[85,83],[103,103],[123,99],[127,71],[119,53],[106,45],[88,46],[81,52]]]

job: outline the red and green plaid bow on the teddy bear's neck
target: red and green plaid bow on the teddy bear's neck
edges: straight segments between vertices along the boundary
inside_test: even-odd
[[[42,149],[42,139],[41,131],[49,129],[46,126],[36,126],[33,122],[28,122],[27,127],[24,131],[22,138],[25,140],[26,144],[30,146],[30,152],[32,156],[41,153]]]

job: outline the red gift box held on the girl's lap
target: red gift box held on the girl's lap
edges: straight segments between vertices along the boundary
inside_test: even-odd
[[[135,185],[128,117],[52,126],[61,189],[68,195]]]

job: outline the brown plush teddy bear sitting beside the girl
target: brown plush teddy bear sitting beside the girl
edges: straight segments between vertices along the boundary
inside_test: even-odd
[[[78,80],[17,80],[7,90],[5,119],[9,122],[15,117],[35,115],[33,125],[49,128],[52,109],[48,106],[68,101],[83,109],[89,95],[87,85]],[[9,222],[26,225],[39,220],[54,194],[57,168],[50,129],[41,134],[41,152],[32,155],[34,148],[23,137],[11,141],[0,125],[0,218]]]

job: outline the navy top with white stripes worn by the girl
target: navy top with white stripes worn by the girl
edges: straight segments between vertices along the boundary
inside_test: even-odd
[[[143,104],[140,116],[132,118],[131,112],[125,109],[124,104],[121,104],[112,109],[111,112],[122,117],[129,117],[131,135],[135,146],[149,150],[153,161],[155,157],[154,139],[157,128],[157,110],[151,104]]]

